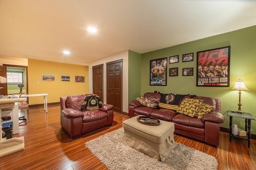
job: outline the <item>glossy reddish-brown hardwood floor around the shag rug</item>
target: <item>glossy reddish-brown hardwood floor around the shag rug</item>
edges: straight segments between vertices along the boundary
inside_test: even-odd
[[[123,120],[129,117],[114,113],[112,126],[72,140],[60,127],[59,113],[59,105],[49,106],[48,114],[43,107],[20,109],[20,115],[26,115],[28,123],[20,122],[20,132],[15,137],[25,137],[25,150],[0,158],[0,169],[108,169],[84,143],[122,127]],[[218,148],[179,135],[175,135],[175,140],[216,157],[218,169],[256,167],[256,140],[251,140],[250,149],[245,140],[232,139],[230,143],[228,133],[224,132],[221,132]]]

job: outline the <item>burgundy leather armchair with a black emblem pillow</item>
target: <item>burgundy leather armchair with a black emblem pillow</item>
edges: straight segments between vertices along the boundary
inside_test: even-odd
[[[72,138],[113,123],[113,105],[102,104],[99,110],[81,111],[84,98],[88,95],[69,95],[60,98],[60,124]]]

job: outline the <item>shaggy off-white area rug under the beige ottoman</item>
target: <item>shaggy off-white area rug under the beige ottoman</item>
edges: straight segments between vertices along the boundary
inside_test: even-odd
[[[110,169],[217,169],[215,157],[177,143],[159,162],[123,143],[123,128],[86,142],[91,152]]]

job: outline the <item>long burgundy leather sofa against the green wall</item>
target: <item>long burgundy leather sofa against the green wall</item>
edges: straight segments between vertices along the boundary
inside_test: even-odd
[[[144,98],[157,104],[160,102],[159,93],[147,92],[144,94]],[[182,100],[185,98],[189,98],[189,96],[185,96]],[[175,125],[175,133],[218,147],[220,124],[224,122],[224,116],[220,113],[221,101],[219,99],[202,96],[196,96],[193,99],[204,100],[203,103],[213,106],[211,113],[204,115],[202,119],[198,119],[196,117],[179,114],[172,110],[148,108],[142,106],[137,101],[133,101],[129,105],[129,116],[146,115],[173,122]]]

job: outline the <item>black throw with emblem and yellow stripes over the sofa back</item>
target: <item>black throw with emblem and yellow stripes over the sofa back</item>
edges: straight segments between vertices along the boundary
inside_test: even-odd
[[[169,94],[160,93],[160,95],[161,95],[161,98],[160,98],[158,107],[160,109],[169,109],[174,111],[177,111],[182,99],[186,95],[189,95],[190,98],[194,98],[196,96],[196,95],[190,95],[190,94],[173,94],[173,93],[169,93]]]

